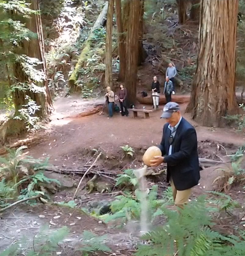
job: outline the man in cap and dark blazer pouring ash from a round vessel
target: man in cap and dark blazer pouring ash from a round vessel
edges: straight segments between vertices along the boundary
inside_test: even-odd
[[[175,205],[183,208],[200,179],[196,130],[181,116],[177,103],[167,103],[161,118],[167,121],[158,146],[162,156],[151,160],[151,166],[167,163],[167,182],[173,189]]]

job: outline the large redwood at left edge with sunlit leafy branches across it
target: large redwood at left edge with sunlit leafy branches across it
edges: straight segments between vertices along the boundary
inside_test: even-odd
[[[15,106],[0,129],[0,141],[33,128],[51,110],[38,1],[8,1],[1,8],[1,59]],[[6,30],[6,31],[5,31]],[[3,48],[3,49],[2,49]],[[19,120],[16,120],[19,119]]]

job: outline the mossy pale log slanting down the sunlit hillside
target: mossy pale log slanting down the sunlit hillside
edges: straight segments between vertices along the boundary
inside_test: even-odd
[[[87,40],[84,43],[84,48],[81,51],[81,54],[78,58],[78,62],[75,66],[75,69],[69,78],[68,84],[70,87],[75,86],[75,82],[77,81],[78,74],[79,74],[79,69],[84,65],[87,54],[90,52],[90,46],[92,44],[92,39],[94,37],[94,30],[96,30],[102,26],[103,21],[107,15],[107,10],[108,10],[108,2],[106,1],[103,10],[101,11],[97,20],[95,21],[93,28],[90,30],[89,37],[87,38]]]

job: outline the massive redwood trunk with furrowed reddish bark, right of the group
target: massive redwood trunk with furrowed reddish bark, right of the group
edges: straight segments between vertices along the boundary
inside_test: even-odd
[[[237,113],[235,49],[238,0],[201,0],[199,49],[187,111],[204,126]]]

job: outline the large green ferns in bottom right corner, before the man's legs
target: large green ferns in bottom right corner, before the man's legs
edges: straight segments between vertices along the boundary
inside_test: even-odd
[[[137,256],[242,256],[245,253],[244,233],[223,236],[212,231],[214,225],[205,198],[192,201],[180,214],[164,209],[167,223],[142,239]]]

